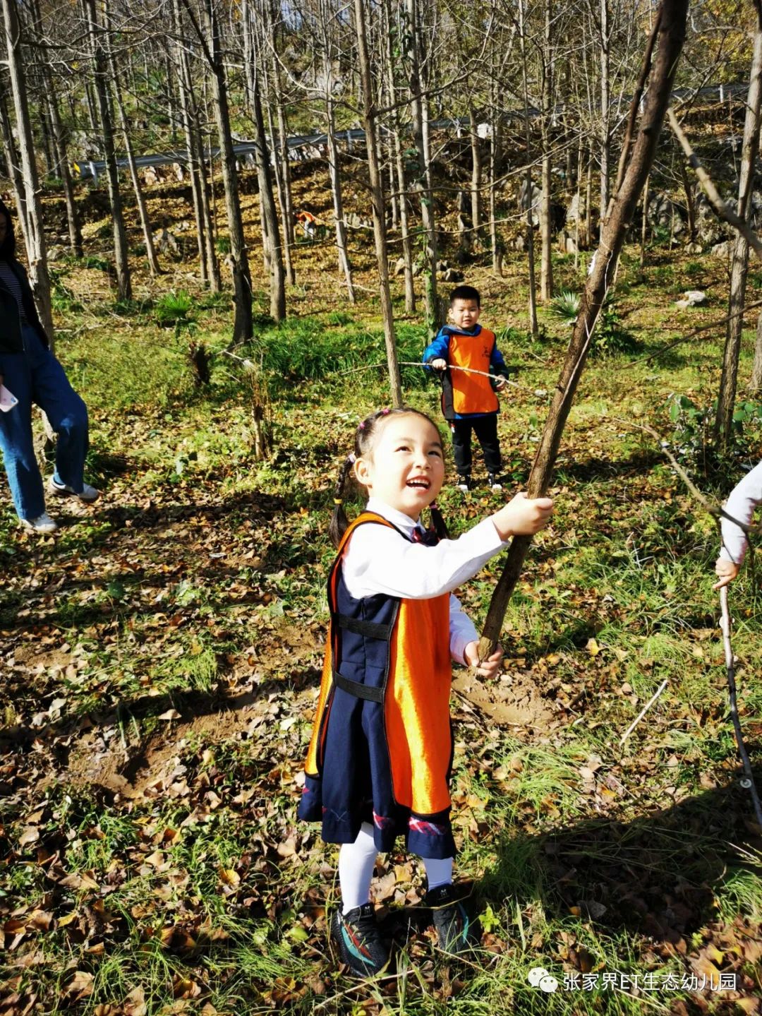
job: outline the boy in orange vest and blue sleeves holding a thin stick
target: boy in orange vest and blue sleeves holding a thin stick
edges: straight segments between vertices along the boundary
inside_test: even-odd
[[[441,407],[453,431],[453,452],[458,469],[458,487],[471,487],[471,432],[476,433],[487,466],[487,483],[500,491],[500,443],[497,439],[499,405],[496,391],[505,387],[509,374],[495,343],[495,333],[479,324],[481,298],[473,285],[458,285],[449,294],[449,324],[440,328],[423,351],[423,363],[442,371]],[[454,370],[467,367],[481,374]],[[499,375],[499,380],[484,377]]]

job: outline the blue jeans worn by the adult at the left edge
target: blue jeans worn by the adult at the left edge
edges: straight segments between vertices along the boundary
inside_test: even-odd
[[[45,489],[31,435],[32,403],[58,434],[56,482],[77,492],[84,485],[87,407],[34,329],[23,325],[21,331],[24,352],[0,353],[3,384],[18,399],[18,405],[0,412],[0,448],[16,513],[32,519],[45,511]]]

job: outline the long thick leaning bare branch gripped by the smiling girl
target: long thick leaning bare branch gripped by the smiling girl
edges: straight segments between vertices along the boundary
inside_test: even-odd
[[[688,0],[663,0],[659,51],[645,100],[640,129],[622,185],[612,203],[596,252],[593,271],[582,293],[581,307],[569,342],[561,374],[554,388],[548,420],[537,450],[527,487],[531,498],[541,497],[550,485],[553,466],[571,409],[574,393],[590,352],[593,330],[611,280],[616,274],[619,254],[635,212],[640,192],[648,176],[672,91],[678,59],[685,39]],[[482,632],[479,655],[485,659],[500,637],[505,609],[521,575],[531,536],[514,536],[495,587]]]

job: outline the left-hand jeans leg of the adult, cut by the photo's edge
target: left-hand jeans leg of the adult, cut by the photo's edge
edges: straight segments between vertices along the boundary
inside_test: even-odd
[[[0,448],[8,486],[22,519],[39,518],[45,511],[45,490],[31,434],[31,378],[22,353],[0,355],[3,384],[18,399],[8,412],[0,412]]]

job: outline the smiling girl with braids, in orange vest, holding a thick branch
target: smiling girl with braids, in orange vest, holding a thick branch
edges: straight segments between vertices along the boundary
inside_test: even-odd
[[[342,507],[350,471],[368,495],[351,525]],[[458,953],[469,946],[468,915],[453,887],[451,657],[492,678],[502,649],[479,661],[476,630],[452,590],[511,536],[542,529],[553,510],[549,498],[517,494],[448,539],[434,506],[443,481],[435,425],[402,408],[360,424],[337,485],[331,620],[299,817],[322,822],[324,840],[342,844],[342,902],[331,938],[360,976],[390,959],[369,889],[376,853],[391,850],[398,835],[423,859],[440,947]],[[435,532],[420,524],[425,508]]]

